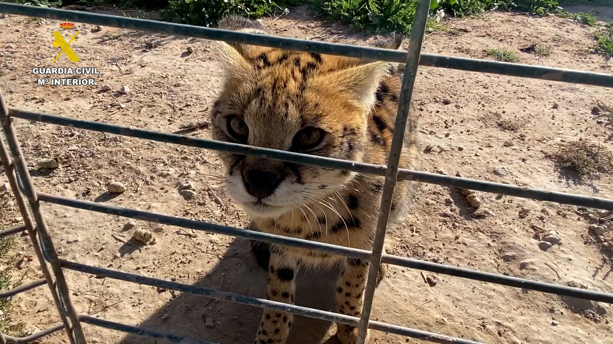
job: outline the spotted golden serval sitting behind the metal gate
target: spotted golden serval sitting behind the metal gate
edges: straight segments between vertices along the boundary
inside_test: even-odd
[[[238,17],[220,26],[267,34]],[[397,49],[401,41],[392,37],[375,46]],[[226,78],[211,111],[216,140],[386,165],[400,94],[389,64],[235,43],[221,43],[221,55]],[[401,166],[414,168],[414,126],[408,131]],[[383,178],[218,154],[227,191],[251,217],[251,230],[371,249]],[[410,186],[399,182],[395,190],[396,222],[406,213]],[[368,262],[264,242],[253,242],[252,250],[268,271],[267,299],[294,302],[299,266],[340,264],[337,312],[360,316]],[[292,321],[291,313],[264,310],[254,343],[286,343]],[[339,324],[337,337],[355,343],[357,329]]]

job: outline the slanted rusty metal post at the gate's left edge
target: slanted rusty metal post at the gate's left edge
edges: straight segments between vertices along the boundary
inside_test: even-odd
[[[9,117],[9,108],[7,108],[6,103],[4,102],[4,97],[1,90],[0,122],[2,129],[4,130],[4,135],[6,135],[6,141],[9,144],[9,149],[13,156],[11,162],[8,152],[4,146],[4,142],[2,141],[2,138],[0,138],[0,159],[4,165],[4,170],[6,170],[10,187],[13,190],[13,195],[15,195],[15,200],[17,201],[18,208],[23,216],[24,223],[28,228],[28,233],[30,234],[30,239],[32,241],[32,247],[34,247],[36,255],[40,261],[40,268],[45,274],[45,278],[47,279],[51,289],[53,301],[55,301],[55,304],[58,307],[64,327],[66,328],[68,337],[70,338],[70,343],[86,344],[85,335],[83,335],[83,330],[78,320],[77,312],[70,301],[70,291],[66,285],[66,279],[64,278],[64,273],[62,271],[58,255],[53,247],[53,242],[51,242],[51,237],[47,230],[47,223],[45,223],[42,212],[40,211],[40,202],[37,199],[36,192],[34,191],[34,185],[32,184],[32,179],[30,178],[25,159],[23,158],[23,154],[21,154],[21,148],[17,141],[17,135],[15,134],[15,130],[13,129],[13,125]],[[13,171],[13,168],[15,168],[15,171]],[[34,226],[34,223],[32,223],[32,217],[28,211],[28,207],[26,206],[25,200],[23,200],[23,197],[21,196],[17,177],[21,182],[21,186],[23,187],[23,192],[28,199],[29,206],[34,213],[34,223],[36,223],[36,226]],[[36,232],[34,231],[35,228],[40,237],[40,245],[42,246],[42,250],[37,242]],[[45,262],[46,258],[48,258],[51,265],[53,275],[55,275],[55,281],[53,281],[47,269]]]

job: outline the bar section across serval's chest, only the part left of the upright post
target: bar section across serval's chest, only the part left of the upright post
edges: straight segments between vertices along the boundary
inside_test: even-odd
[[[300,247],[302,249],[334,253],[336,255],[348,256],[352,258],[361,258],[365,260],[370,259],[371,256],[371,253],[367,250],[354,249],[352,247],[331,245],[326,244],[324,242],[309,241],[304,239],[297,239],[295,237],[287,237],[258,231],[243,230],[240,228],[234,228],[229,226],[215,225],[213,223],[156,214],[154,212],[140,211],[116,206],[107,206],[105,204],[95,202],[74,200],[72,198],[49,195],[48,193],[38,193],[37,195],[40,201],[48,203],[60,204],[70,208],[102,212],[104,214],[129,217],[130,219],[135,220],[156,222],[161,223],[162,225],[180,226],[184,228],[190,228],[192,230],[207,231],[211,233],[218,233],[229,236],[239,236],[249,240],[267,241],[281,245],[291,245],[293,247]]]

